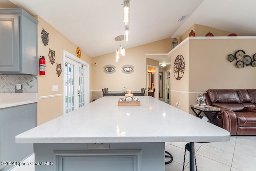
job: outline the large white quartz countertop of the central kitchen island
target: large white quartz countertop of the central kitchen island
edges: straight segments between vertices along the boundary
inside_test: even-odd
[[[16,143],[134,143],[229,141],[220,127],[151,96],[140,106],[102,97],[16,136]]]

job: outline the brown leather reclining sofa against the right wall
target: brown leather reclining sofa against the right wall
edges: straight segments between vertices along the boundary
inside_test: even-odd
[[[256,89],[208,89],[206,105],[220,108],[218,115],[206,112],[212,123],[231,135],[256,135]]]

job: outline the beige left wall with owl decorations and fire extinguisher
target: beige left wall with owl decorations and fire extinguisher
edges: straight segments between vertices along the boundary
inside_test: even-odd
[[[65,73],[65,64],[62,64],[62,50],[66,50],[76,56],[76,48],[70,40],[63,36],[58,30],[53,28],[50,24],[44,21],[40,16],[35,16],[38,22],[38,61],[40,56],[46,56],[46,75],[39,75],[38,72],[38,125],[54,119],[56,115],[62,115],[62,77]],[[41,32],[42,28],[49,33],[48,45],[44,46],[42,43]],[[49,48],[55,51],[55,63],[50,63],[48,53]],[[91,58],[82,51],[81,59],[90,64]],[[56,74],[56,64],[61,64],[62,73],[58,77]],[[91,70],[90,70],[91,71]],[[90,72],[92,78],[92,72]],[[91,80],[91,79],[90,79]],[[52,85],[58,85],[58,91],[52,91]],[[91,84],[90,84],[91,85]],[[52,97],[59,95],[57,97]],[[47,98],[42,98],[42,97]]]

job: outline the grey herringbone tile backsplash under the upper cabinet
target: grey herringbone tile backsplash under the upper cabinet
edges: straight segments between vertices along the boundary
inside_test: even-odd
[[[22,93],[37,93],[37,76],[0,75],[0,93],[15,93],[15,85],[22,85]]]

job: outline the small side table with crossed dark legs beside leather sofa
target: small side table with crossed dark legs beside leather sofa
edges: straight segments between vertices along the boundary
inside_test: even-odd
[[[202,116],[200,116],[200,114],[203,112],[204,115],[211,121],[213,122],[213,120],[216,118],[216,116],[218,115],[219,111],[220,111],[220,108],[218,107],[213,107],[213,106],[199,106],[199,105],[190,105],[192,111],[196,114],[196,117],[199,117],[202,119]],[[195,109],[198,111],[196,112]],[[212,118],[209,118],[207,115],[206,115],[206,112],[213,112],[214,113],[214,116]]]

